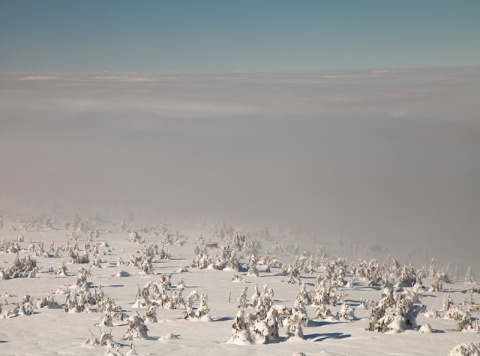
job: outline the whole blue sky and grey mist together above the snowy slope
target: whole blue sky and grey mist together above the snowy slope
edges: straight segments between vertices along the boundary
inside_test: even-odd
[[[479,15],[0,1],[0,198],[300,226],[480,272]]]

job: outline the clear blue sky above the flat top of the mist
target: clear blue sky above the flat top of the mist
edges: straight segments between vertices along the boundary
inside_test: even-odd
[[[1,1],[0,71],[480,65],[480,2]]]

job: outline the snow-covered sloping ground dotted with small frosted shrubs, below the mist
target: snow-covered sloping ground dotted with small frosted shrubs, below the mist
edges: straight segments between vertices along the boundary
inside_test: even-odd
[[[292,355],[300,352],[306,355],[448,355],[460,343],[480,342],[478,331],[458,331],[460,321],[445,318],[448,312],[444,302],[450,296],[453,302],[450,313],[456,310],[471,324],[470,328],[480,329],[477,283],[465,284],[464,276],[454,280],[445,266],[405,268],[409,261],[395,265],[393,256],[386,256],[381,249],[357,248],[359,253],[365,251],[366,263],[362,264],[358,256],[342,259],[349,253],[345,243],[340,246],[337,241],[317,238],[306,244],[307,239],[296,241],[296,233],[273,228],[255,230],[228,224],[122,220],[98,215],[32,217],[9,212],[3,213],[2,223],[2,355],[103,355],[108,352],[136,352],[139,355]],[[145,253],[147,250],[149,256]],[[72,254],[77,259],[88,256],[88,262],[71,263]],[[231,259],[222,260],[220,255]],[[27,260],[26,256],[31,259]],[[265,256],[271,257],[270,271]],[[378,265],[371,262],[372,257],[378,259]],[[27,266],[22,271],[20,266],[14,271],[12,266],[16,258],[24,264],[30,263],[31,269]],[[194,260],[199,267],[192,266]],[[58,272],[62,264],[66,267],[65,274]],[[239,266],[238,271],[232,269],[232,265]],[[82,268],[83,277],[79,278]],[[378,285],[369,285],[374,269],[379,271]],[[442,277],[442,271],[447,277]],[[23,272],[30,273],[30,278],[22,277]],[[416,282],[419,283],[414,287],[407,286],[412,276],[418,278]],[[435,291],[430,288],[434,278],[439,282]],[[446,278],[454,281],[448,283]],[[382,288],[388,285],[391,285],[390,292]],[[302,286],[306,291],[300,293]],[[260,296],[253,297],[256,287]],[[246,305],[239,308],[245,288]],[[403,310],[416,310],[418,317],[401,319],[402,315],[392,314],[395,309],[392,306],[385,309],[387,315],[398,317],[393,317],[390,324],[385,322],[385,330],[391,330],[369,331],[372,309],[378,307],[382,289],[387,295],[391,293],[391,299],[383,295],[384,301],[390,300],[389,303],[398,306],[402,300],[408,300]],[[162,290],[164,299],[158,294],[162,294]],[[192,293],[194,291],[197,293]],[[328,291],[327,296],[325,291]],[[26,295],[30,298],[25,298]],[[180,301],[175,304],[174,295],[182,296],[183,301],[177,298]],[[209,310],[205,305],[201,307],[202,295]],[[190,307],[189,296],[192,296]],[[41,307],[38,300],[47,297],[50,297],[51,307]],[[317,303],[305,300],[310,297],[317,298]],[[274,329],[275,326],[264,322],[269,310],[260,310],[259,298],[264,298],[266,305],[273,305],[272,308],[279,311],[277,322],[283,322],[283,326],[278,327],[278,337],[270,337],[266,342],[255,336],[254,329],[261,330],[265,325]],[[325,302],[329,298],[330,302]],[[105,307],[106,301],[110,307]],[[256,307],[250,305],[252,301]],[[320,304],[324,312],[330,310],[331,316],[323,319],[317,314]],[[354,310],[349,317],[342,315],[344,304]],[[134,328],[134,339],[126,339],[129,320],[137,313],[145,318],[149,305],[156,307],[157,322],[145,321],[148,331],[143,338],[135,339],[135,336],[142,337],[142,333]],[[187,309],[190,315],[185,318]],[[244,310],[246,326],[237,334],[246,335],[247,341],[242,341],[240,336],[232,338],[232,325],[240,309]],[[100,310],[116,311],[111,326],[99,325],[105,321],[105,312]],[[469,314],[465,313],[467,310]],[[33,314],[28,315],[32,311]],[[303,327],[300,321],[298,325],[302,331],[298,332],[297,328],[292,334],[298,335],[289,337],[287,328],[295,322],[289,324],[288,320],[293,320],[295,312],[300,316],[306,313],[308,320],[304,320]],[[14,316],[17,313],[18,316]],[[405,324],[405,320],[413,324]],[[430,328],[423,326],[427,323]],[[421,332],[423,330],[427,332]],[[92,345],[100,342],[102,332],[111,334],[110,346]]]

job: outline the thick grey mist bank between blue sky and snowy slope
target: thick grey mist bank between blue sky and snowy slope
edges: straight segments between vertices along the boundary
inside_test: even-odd
[[[290,224],[479,268],[478,68],[4,73],[0,94],[6,201]]]

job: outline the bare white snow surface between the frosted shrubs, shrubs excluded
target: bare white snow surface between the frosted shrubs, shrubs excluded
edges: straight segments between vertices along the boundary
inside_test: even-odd
[[[87,220],[87,219],[85,219]],[[19,257],[32,256],[28,251],[30,244],[38,245],[44,242],[48,250],[51,241],[56,247],[66,244],[71,228],[65,229],[64,221],[53,219],[53,228],[31,227],[19,222],[21,219],[13,214],[3,216],[3,229],[0,229],[0,241],[17,241],[21,247]],[[88,268],[89,265],[69,264],[70,257],[64,254],[63,257],[35,257],[39,272],[34,278],[12,278],[0,280],[0,304],[2,314],[14,307],[15,303],[21,302],[24,295],[30,295],[34,300],[40,297],[53,295],[55,300],[62,306],[59,309],[34,309],[30,316],[20,315],[13,318],[0,318],[0,354],[2,355],[104,355],[105,347],[82,347],[85,340],[92,335],[100,336],[101,331],[111,332],[113,340],[117,343],[118,354],[127,354],[130,345],[133,344],[135,352],[139,355],[293,355],[304,353],[305,355],[447,355],[456,345],[460,343],[478,343],[480,336],[477,332],[459,332],[457,321],[444,318],[426,318],[420,313],[417,324],[427,323],[432,332],[419,332],[416,329],[407,330],[401,333],[389,334],[368,331],[369,316],[371,308],[359,307],[361,299],[378,301],[380,299],[380,288],[369,287],[366,281],[358,280],[352,287],[339,287],[339,290],[346,293],[345,302],[355,307],[353,321],[319,320],[316,319],[316,308],[307,306],[309,323],[303,328],[304,339],[293,337],[287,338],[286,323],[280,328],[280,339],[276,342],[266,344],[229,343],[232,337],[232,323],[238,312],[237,298],[243,288],[248,286],[247,297],[253,294],[255,285],[259,290],[263,285],[268,284],[274,291],[273,303],[293,307],[295,296],[300,290],[299,284],[287,283],[287,277],[280,273],[279,268],[272,267],[271,272],[265,272],[265,266],[258,265],[259,276],[247,275],[247,269],[240,271],[218,270],[215,268],[197,269],[190,267],[194,256],[194,249],[197,239],[200,236],[209,242],[217,242],[221,247],[225,243],[215,234],[213,225],[206,223],[192,222],[170,222],[170,221],[135,221],[126,220],[127,229],[138,231],[145,239],[144,244],[130,241],[129,231],[122,231],[120,228],[122,220],[111,219],[90,219],[87,225],[91,229],[98,229],[98,237],[93,237],[91,245],[99,245],[99,258],[101,268],[91,267],[91,277],[88,281],[92,288],[100,288],[106,296],[112,298],[116,305],[122,307],[128,315],[138,312],[145,315],[146,308],[133,309],[137,286],[143,287],[148,282],[160,283],[162,275],[171,274],[172,286],[176,286],[181,279],[184,281],[185,290],[183,296],[186,298],[191,291],[198,291],[198,294],[208,295],[208,306],[210,308],[211,321],[185,320],[183,309],[157,309],[158,323],[148,323],[149,339],[124,340],[123,336],[127,330],[127,318],[124,321],[113,319],[112,327],[98,327],[102,321],[103,313],[92,310],[88,313],[66,313],[63,310],[65,294],[62,291],[72,291],[77,279],[79,267]],[[147,226],[144,231],[142,227]],[[247,237],[251,231],[242,227],[236,227]],[[164,232],[170,235],[177,234],[183,245],[169,245],[170,259],[160,259],[155,256],[153,259],[153,273],[141,272],[138,267],[126,264],[118,265],[121,258],[127,262],[130,255],[142,250],[144,246],[157,244],[162,246]],[[19,236],[22,235],[23,239]],[[88,239],[88,232],[76,231],[77,244],[82,250]],[[262,250],[258,252],[263,255],[267,250],[273,251],[278,242],[285,244],[287,241],[294,242],[295,234],[283,231],[271,230],[270,237],[260,239]],[[72,243],[72,240],[70,240]],[[328,252],[329,247],[334,247],[337,254],[341,248],[335,245],[335,241],[317,241],[323,244]],[[167,247],[166,245],[164,246]],[[219,253],[219,248],[208,248],[213,261]],[[313,252],[313,250],[311,251]],[[273,254],[273,253],[271,253]],[[6,269],[15,259],[15,253],[0,252],[0,269]],[[241,259],[246,266],[248,257]],[[294,256],[289,251],[284,251],[277,256],[283,263],[293,261]],[[369,256],[364,256],[368,258]],[[93,259],[92,259],[93,260]],[[92,261],[91,260],[91,261]],[[68,272],[67,276],[56,275],[49,272],[54,271],[65,263]],[[408,261],[402,261],[407,264]],[[188,267],[182,269],[182,267]],[[440,266],[438,266],[440,267]],[[179,272],[179,271],[187,272]],[[125,273],[127,272],[127,273]],[[318,268],[312,274],[301,274],[300,280],[306,284],[307,290],[313,291],[315,279],[322,276],[324,270]],[[232,282],[234,274],[240,275],[244,282]],[[351,279],[347,274],[346,279]],[[427,306],[427,310],[435,308],[442,309],[443,298],[446,293],[450,294],[456,304],[461,307],[468,294],[465,293],[471,286],[465,285],[463,280],[455,283],[444,284],[442,292],[428,292],[431,280],[425,278],[424,290],[421,302]],[[78,290],[78,288],[76,289]],[[60,291],[60,292],[58,292]],[[480,302],[480,294],[474,294],[474,299]],[[197,302],[198,304],[198,302]],[[332,311],[339,311],[341,305],[331,307]],[[465,309],[465,307],[463,307]],[[253,313],[251,307],[245,308],[246,313]],[[478,318],[480,312],[474,311],[472,317]],[[160,341],[160,342],[159,342]]]

